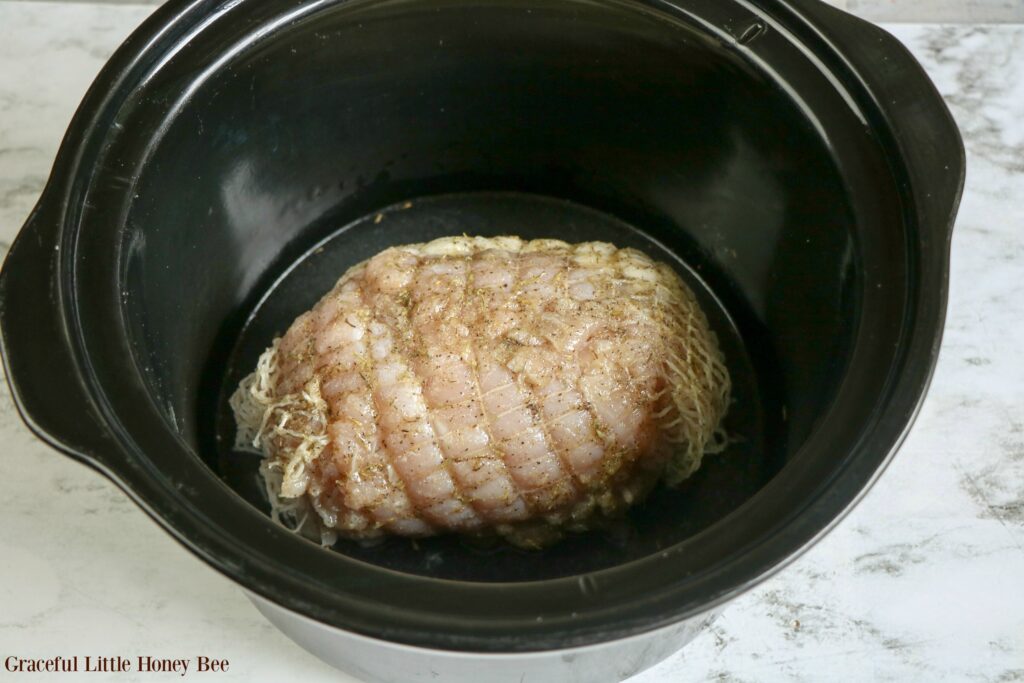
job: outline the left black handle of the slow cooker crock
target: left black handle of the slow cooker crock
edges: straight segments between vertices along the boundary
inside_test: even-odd
[[[44,200],[29,216],[0,270],[0,350],[22,419],[47,443],[105,470],[115,445],[83,388],[56,291],[59,221]]]

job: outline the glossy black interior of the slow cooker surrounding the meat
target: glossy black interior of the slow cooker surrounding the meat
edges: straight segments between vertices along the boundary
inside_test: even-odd
[[[857,333],[865,217],[821,122],[734,44],[603,0],[341,3],[218,61],[240,31],[201,34],[156,75],[164,99],[137,103],[162,123],[122,261],[138,366],[238,495],[267,508],[226,409],[259,352],[348,266],[463,232],[601,239],[674,264],[726,351],[733,442],[622,523],[543,552],[456,538],[338,552],[466,581],[599,569],[711,529],[799,452]]]

